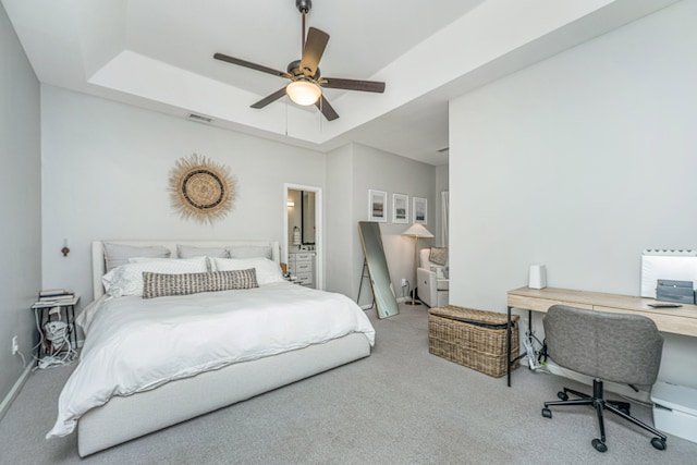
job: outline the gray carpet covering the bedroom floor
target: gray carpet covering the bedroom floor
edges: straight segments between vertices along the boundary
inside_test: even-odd
[[[1,464],[653,464],[694,463],[697,444],[606,417],[608,452],[590,407],[542,403],[567,386],[521,368],[513,387],[428,353],[426,307],[378,320],[370,357],[81,460],[76,438],[46,440],[72,367],[38,370],[0,423]],[[200,393],[206,395],[205,392]],[[612,395],[608,395],[612,397]],[[651,423],[650,408],[632,413]]]

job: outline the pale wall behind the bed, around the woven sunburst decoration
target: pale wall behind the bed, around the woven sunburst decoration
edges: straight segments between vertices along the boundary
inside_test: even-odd
[[[46,85],[41,107],[44,286],[73,289],[83,305],[91,297],[91,241],[282,241],[283,183],[325,186],[326,156],[317,151]],[[194,152],[237,180],[234,209],[213,225],[171,208],[170,170]]]

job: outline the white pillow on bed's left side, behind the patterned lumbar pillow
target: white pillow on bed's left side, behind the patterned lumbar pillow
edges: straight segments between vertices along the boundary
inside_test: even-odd
[[[166,274],[205,273],[208,271],[208,266],[206,257],[181,260],[145,259],[145,261],[135,261],[114,268],[101,278],[101,282],[107,294],[113,297],[143,295],[144,271]]]

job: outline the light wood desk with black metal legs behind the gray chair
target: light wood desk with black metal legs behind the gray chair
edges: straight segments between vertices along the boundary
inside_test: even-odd
[[[559,304],[598,311],[644,315],[653,320],[659,331],[697,336],[697,305],[684,304],[677,308],[649,307],[649,304],[655,304],[656,302],[656,299],[647,297],[554,287],[521,287],[509,291],[509,329],[506,334],[506,353],[509,354],[506,371],[509,386],[511,386],[511,364],[515,362],[511,360],[511,308],[515,307],[528,310],[528,329],[533,328],[533,311],[547,313],[549,307]]]

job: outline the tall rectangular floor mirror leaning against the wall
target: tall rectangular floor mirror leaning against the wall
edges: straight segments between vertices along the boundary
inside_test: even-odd
[[[390,279],[388,260],[384,257],[380,223],[359,221],[358,230],[360,231],[360,242],[363,243],[363,253],[368,267],[378,318],[392,317],[400,313],[400,307],[394,295],[392,279]]]

